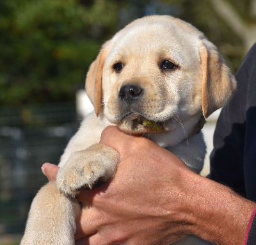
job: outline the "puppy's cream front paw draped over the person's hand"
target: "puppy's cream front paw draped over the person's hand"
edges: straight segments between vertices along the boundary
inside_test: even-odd
[[[85,187],[92,189],[99,180],[111,179],[118,163],[118,152],[106,145],[74,152],[58,172],[57,187],[67,196],[76,196]]]

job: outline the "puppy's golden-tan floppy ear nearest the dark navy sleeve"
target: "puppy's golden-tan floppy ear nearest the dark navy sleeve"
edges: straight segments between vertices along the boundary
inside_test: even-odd
[[[202,110],[207,118],[227,103],[236,90],[236,79],[216,47],[206,38],[201,41],[199,52],[203,70]]]

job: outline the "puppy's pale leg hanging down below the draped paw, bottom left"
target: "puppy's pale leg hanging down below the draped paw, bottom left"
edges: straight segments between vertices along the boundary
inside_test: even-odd
[[[20,245],[74,244],[75,220],[79,213],[77,200],[60,194],[56,182],[49,182],[38,191],[31,204]]]

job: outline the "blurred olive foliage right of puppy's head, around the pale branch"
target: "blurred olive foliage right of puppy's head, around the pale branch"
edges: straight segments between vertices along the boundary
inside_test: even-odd
[[[190,22],[196,26],[196,28],[200,29],[200,31],[202,31],[205,36],[218,47],[232,72],[236,72],[243,60],[244,54],[246,54],[248,50],[245,49],[241,38],[237,36],[228,23],[216,12],[210,0],[162,1],[164,3],[172,3],[173,5],[176,5],[179,8],[177,17]],[[221,2],[228,3],[232,8],[231,11],[238,15],[239,19],[246,25],[248,22],[253,23],[252,18],[248,14],[248,7],[253,1],[255,0],[223,0]],[[254,24],[256,24],[256,22],[254,22]]]

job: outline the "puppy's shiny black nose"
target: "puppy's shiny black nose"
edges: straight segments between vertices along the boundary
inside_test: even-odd
[[[124,85],[119,90],[119,98],[126,104],[132,104],[143,94],[143,89],[136,85]]]

